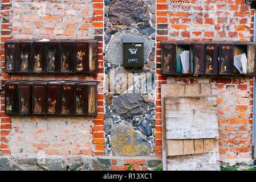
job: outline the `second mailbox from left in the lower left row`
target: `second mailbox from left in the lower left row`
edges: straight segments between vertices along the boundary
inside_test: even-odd
[[[32,104],[32,85],[38,81],[22,81],[19,82],[19,114],[31,114]]]

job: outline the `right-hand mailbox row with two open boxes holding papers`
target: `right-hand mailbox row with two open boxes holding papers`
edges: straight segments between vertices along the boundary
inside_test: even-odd
[[[161,74],[255,76],[255,48],[255,42],[161,42]]]

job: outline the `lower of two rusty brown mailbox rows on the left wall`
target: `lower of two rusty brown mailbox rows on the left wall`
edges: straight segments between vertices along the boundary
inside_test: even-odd
[[[97,115],[97,81],[6,81],[5,114]]]

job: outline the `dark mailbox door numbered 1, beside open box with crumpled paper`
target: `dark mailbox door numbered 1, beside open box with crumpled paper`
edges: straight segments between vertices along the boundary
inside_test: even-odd
[[[233,75],[234,67],[234,46],[232,43],[220,44],[220,75]]]

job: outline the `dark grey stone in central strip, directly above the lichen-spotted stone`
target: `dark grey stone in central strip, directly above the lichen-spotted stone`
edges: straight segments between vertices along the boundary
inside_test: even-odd
[[[125,119],[132,119],[135,115],[144,114],[148,109],[140,94],[121,94],[113,98],[113,113]]]

